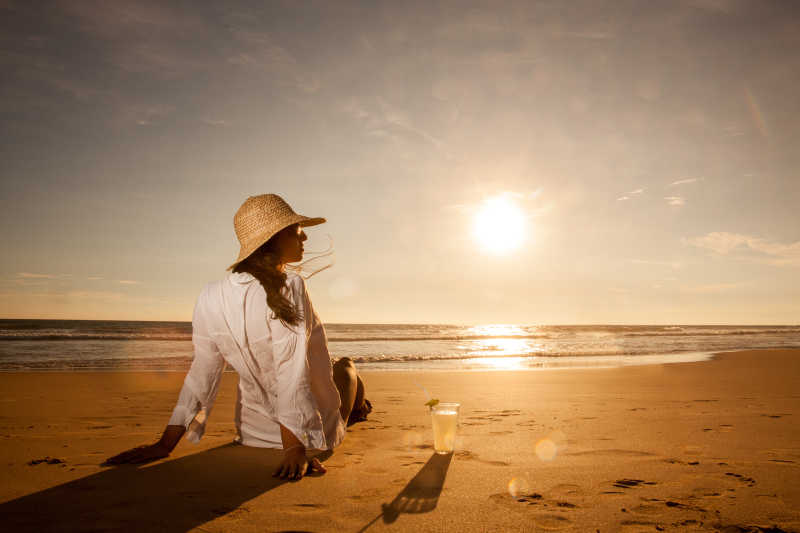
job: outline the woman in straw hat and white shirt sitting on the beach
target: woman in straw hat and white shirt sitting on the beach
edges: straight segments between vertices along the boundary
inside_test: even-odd
[[[300,479],[324,473],[308,450],[330,450],[345,422],[371,411],[355,365],[331,365],[325,330],[305,282],[286,264],[303,257],[303,227],[325,222],[296,214],[279,196],[248,198],[233,219],[241,244],[225,279],[201,292],[192,317],[194,360],[161,439],[106,461],[141,463],[166,457],[181,437],[198,442],[205,430],[225,365],[239,373],[236,441],[282,448],[274,475]]]

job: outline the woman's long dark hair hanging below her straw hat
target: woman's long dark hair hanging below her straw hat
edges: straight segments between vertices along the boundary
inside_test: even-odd
[[[233,267],[233,272],[252,274],[264,287],[264,292],[267,293],[267,305],[275,317],[281,322],[296,326],[303,317],[292,302],[281,294],[281,289],[286,286],[286,272],[278,269],[280,256],[275,249],[277,236],[278,234],[273,235],[270,240]]]

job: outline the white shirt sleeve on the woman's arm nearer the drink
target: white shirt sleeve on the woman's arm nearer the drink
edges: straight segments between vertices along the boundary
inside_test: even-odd
[[[305,281],[294,276],[284,295],[300,315],[297,325],[286,324],[267,310],[267,325],[272,335],[272,353],[277,381],[278,422],[291,431],[306,448],[327,449],[319,408],[311,393],[308,365],[308,339],[311,333],[311,305]]]

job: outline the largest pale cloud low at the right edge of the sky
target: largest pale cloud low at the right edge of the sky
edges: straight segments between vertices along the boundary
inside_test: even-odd
[[[800,266],[800,241],[784,244],[752,235],[715,231],[684,242],[737,259],[776,266]]]

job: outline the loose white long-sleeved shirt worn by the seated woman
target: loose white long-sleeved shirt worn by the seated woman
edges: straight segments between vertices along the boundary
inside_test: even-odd
[[[169,420],[187,428],[189,441],[205,431],[226,363],[239,373],[238,442],[282,448],[279,424],[308,449],[332,449],[344,439],[325,329],[305,281],[288,273],[282,291],[301,316],[297,326],[275,317],[251,274],[229,274],[200,293],[192,317],[194,360]]]

